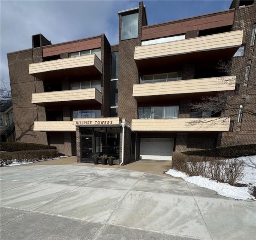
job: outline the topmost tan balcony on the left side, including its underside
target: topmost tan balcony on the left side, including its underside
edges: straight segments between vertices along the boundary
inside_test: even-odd
[[[102,62],[95,54],[29,64],[29,74],[40,80],[102,74]]]

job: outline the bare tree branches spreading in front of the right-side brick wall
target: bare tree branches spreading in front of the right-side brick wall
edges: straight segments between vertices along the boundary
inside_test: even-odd
[[[220,61],[218,64],[219,72],[225,73],[227,76],[232,75],[232,62],[223,62]],[[232,116],[238,116],[238,114],[250,114],[252,116],[256,116],[256,99],[255,97],[250,97],[250,94],[247,92],[254,93],[256,89],[256,73],[250,72],[250,79],[248,81],[249,69],[246,68],[246,72],[244,74],[236,75],[236,78],[231,81],[230,84],[234,84],[236,81],[236,90],[233,91],[225,91],[220,92],[214,96],[206,96],[201,98],[201,102],[191,103],[190,109],[193,112],[212,112],[212,116],[221,112],[221,117],[226,119]],[[221,84],[227,84],[226,78],[218,77]],[[239,86],[245,86],[245,90],[242,93],[238,94]],[[218,119],[218,118],[217,118]],[[207,120],[196,120],[198,122],[214,122],[216,118],[208,118]],[[191,121],[190,124],[195,123]]]

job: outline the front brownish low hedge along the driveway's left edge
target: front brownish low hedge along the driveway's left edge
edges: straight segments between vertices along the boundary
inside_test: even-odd
[[[14,160],[17,162],[23,161],[38,161],[47,158],[54,158],[58,156],[56,149],[43,149],[43,150],[29,150],[17,152],[2,152],[0,156],[0,166],[3,164],[11,164]]]

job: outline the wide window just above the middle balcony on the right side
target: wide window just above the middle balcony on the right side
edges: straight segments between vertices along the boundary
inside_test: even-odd
[[[140,83],[171,82],[178,80],[181,80],[181,72],[169,72],[142,76],[140,78]]]

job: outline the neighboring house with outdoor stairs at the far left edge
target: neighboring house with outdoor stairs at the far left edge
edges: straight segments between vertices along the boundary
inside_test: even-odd
[[[1,142],[15,142],[12,100],[0,100],[1,108]]]

